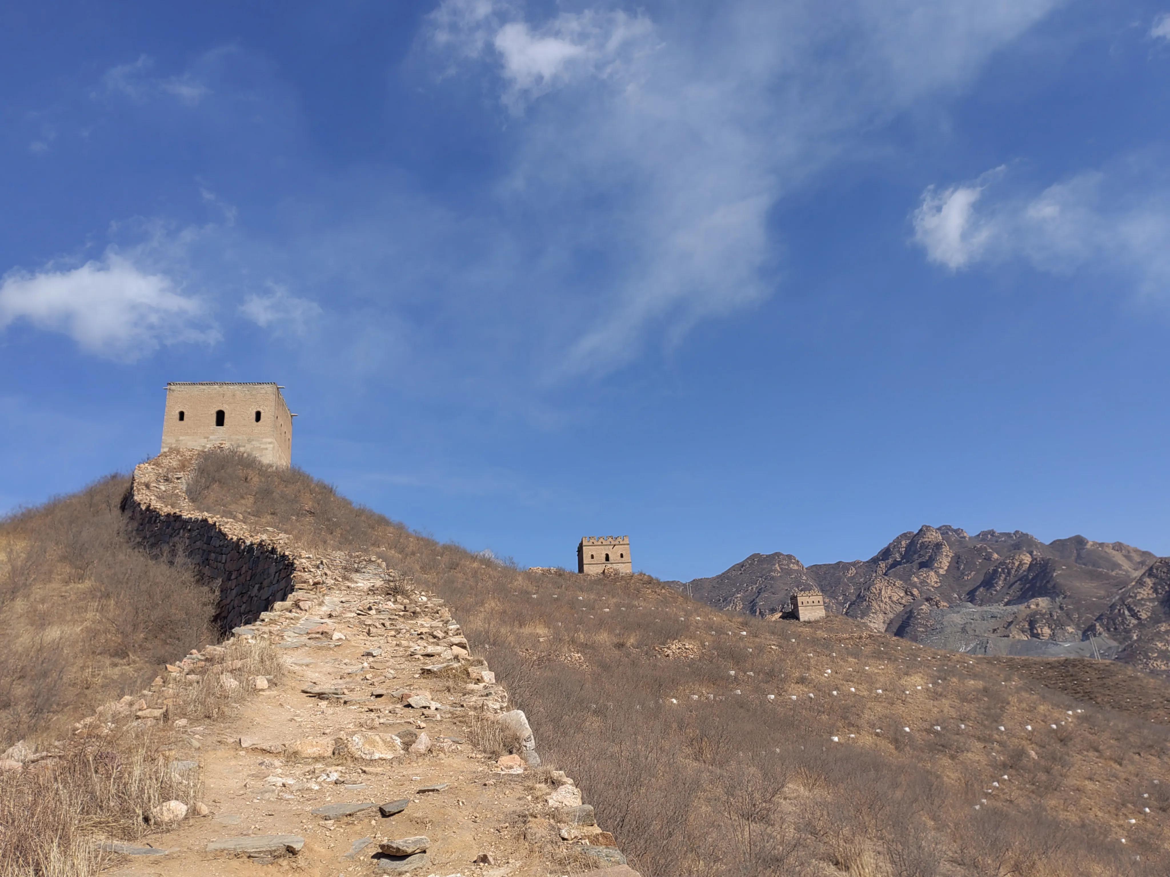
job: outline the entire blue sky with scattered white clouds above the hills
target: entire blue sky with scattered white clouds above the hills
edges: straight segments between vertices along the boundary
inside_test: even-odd
[[[0,509],[276,380],[523,565],[1170,554],[1170,6],[7,4]]]

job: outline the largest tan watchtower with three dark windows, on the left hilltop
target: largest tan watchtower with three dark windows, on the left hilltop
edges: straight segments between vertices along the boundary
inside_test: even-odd
[[[167,384],[163,450],[227,447],[288,467],[295,416],[275,384]]]

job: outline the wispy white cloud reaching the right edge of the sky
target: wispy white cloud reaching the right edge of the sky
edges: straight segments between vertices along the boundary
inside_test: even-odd
[[[951,270],[1024,260],[1064,275],[1123,275],[1145,295],[1170,294],[1170,178],[1130,157],[1028,194],[998,168],[970,184],[928,188],[911,214],[915,242]]]

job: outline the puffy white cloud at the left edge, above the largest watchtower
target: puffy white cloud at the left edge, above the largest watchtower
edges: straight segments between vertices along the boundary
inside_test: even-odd
[[[135,360],[160,344],[211,341],[204,305],[161,272],[108,249],[99,260],[35,274],[9,271],[0,282],[0,329],[27,320],[62,332],[90,353]]]

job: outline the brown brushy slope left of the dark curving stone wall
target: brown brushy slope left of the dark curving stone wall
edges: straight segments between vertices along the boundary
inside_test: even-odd
[[[0,520],[0,751],[51,740],[214,636],[214,594],[129,538],[111,476]]]

